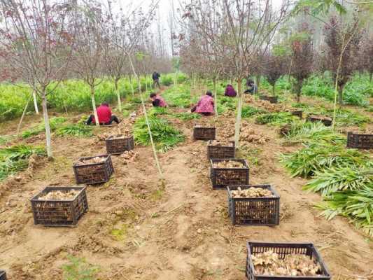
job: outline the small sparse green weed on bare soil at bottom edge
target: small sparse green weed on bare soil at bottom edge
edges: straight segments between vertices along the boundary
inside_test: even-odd
[[[67,256],[69,262],[62,265],[64,280],[95,280],[99,267],[87,263],[84,258]]]

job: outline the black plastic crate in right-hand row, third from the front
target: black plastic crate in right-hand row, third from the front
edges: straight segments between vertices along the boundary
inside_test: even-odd
[[[213,167],[215,162],[232,160],[244,164],[244,168],[216,168]],[[225,189],[227,186],[244,186],[248,185],[248,163],[246,160],[229,159],[210,159],[210,179],[213,189]]]

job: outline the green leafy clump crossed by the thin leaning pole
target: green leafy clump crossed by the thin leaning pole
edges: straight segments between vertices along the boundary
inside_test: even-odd
[[[148,120],[155,146],[160,151],[168,151],[178,143],[184,141],[184,135],[172,127],[167,120],[155,116],[149,116]],[[148,126],[144,117],[139,118],[134,123],[134,139],[137,144],[144,146],[150,145]]]

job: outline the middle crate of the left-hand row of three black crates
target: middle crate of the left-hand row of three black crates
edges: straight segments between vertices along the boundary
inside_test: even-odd
[[[106,183],[113,174],[113,163],[110,155],[97,155],[96,157],[79,158],[80,160],[90,160],[92,158],[106,158],[104,162],[93,163],[89,165],[73,165],[76,183],[78,184],[97,184]]]

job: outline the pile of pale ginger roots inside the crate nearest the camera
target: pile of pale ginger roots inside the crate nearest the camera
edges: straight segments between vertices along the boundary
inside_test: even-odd
[[[273,251],[252,255],[255,274],[271,276],[317,276],[320,267],[307,255],[290,254],[281,259]]]

